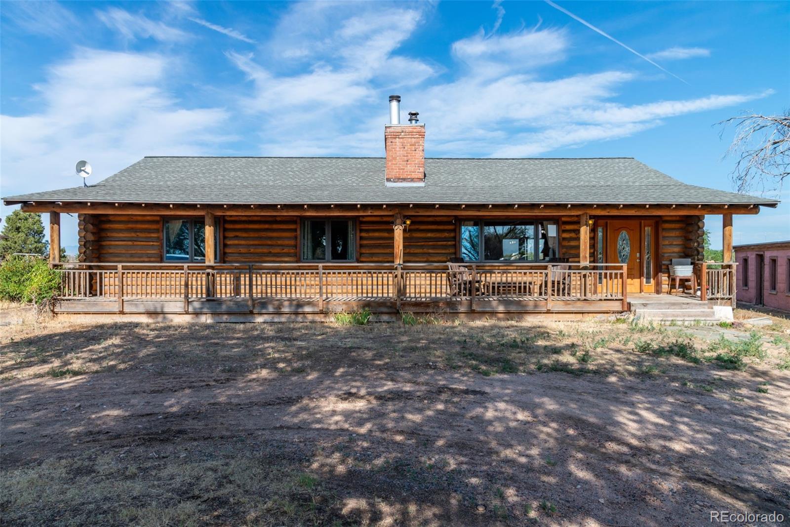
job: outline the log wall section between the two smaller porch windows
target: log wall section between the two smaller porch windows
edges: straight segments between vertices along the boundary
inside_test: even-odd
[[[298,216],[222,216],[224,262],[298,262]]]

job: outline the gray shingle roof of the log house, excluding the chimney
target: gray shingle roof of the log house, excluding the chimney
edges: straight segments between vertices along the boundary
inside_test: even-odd
[[[710,203],[776,200],[681,183],[633,158],[425,160],[388,187],[381,157],[145,157],[107,179],[7,201],[147,203]]]

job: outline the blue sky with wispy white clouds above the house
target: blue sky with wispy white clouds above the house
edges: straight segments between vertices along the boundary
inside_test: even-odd
[[[0,194],[81,184],[80,159],[95,183],[146,155],[382,156],[390,93],[427,156],[634,156],[731,190],[713,124],[790,106],[790,4],[558,5],[2,2]],[[790,239],[788,190],[735,243]]]

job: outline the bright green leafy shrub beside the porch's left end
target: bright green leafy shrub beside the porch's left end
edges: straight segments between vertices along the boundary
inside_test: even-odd
[[[60,274],[40,258],[10,256],[0,264],[0,299],[43,309],[60,290]]]

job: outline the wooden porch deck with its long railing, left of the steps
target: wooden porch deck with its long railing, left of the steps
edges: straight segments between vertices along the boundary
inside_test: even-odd
[[[382,316],[408,311],[487,317],[627,309],[622,265],[478,264],[450,270],[446,264],[65,264],[58,269],[58,314],[321,319],[362,309]]]

